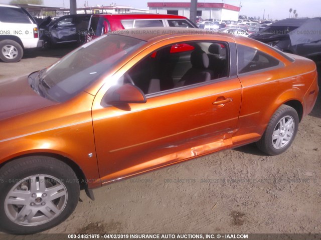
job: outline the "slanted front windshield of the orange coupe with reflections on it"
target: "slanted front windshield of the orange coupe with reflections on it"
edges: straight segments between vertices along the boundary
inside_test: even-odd
[[[66,101],[144,42],[128,36],[103,35],[77,48],[34,77],[31,74],[32,87],[44,97]],[[38,84],[35,78],[38,78]]]

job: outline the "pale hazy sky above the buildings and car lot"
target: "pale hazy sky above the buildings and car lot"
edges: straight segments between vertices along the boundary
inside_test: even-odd
[[[97,4],[108,6],[111,3],[117,5],[129,5],[135,8],[148,9],[147,2],[189,2],[189,0],[86,0],[89,6]],[[9,3],[10,0],[0,0],[0,3]],[[198,0],[198,2],[224,2],[227,4],[240,6],[240,15],[269,17],[272,19],[282,19],[289,17],[289,8],[296,9],[298,17],[321,17],[320,0]],[[77,0],[77,6],[84,6],[85,0]],[[44,0],[44,5],[69,7],[69,0]],[[265,11],[265,12],[264,12]],[[293,13],[293,12],[292,12]]]

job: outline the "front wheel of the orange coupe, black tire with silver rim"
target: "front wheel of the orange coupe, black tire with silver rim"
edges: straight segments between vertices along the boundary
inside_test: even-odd
[[[0,169],[0,183],[0,230],[8,233],[30,234],[56,226],[79,200],[75,172],[53,157],[15,159]]]

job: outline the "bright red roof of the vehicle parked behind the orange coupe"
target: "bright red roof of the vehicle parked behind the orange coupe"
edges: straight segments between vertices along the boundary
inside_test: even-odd
[[[148,19],[148,18],[180,18],[180,19],[186,19],[185,16],[179,16],[179,15],[172,15],[172,14],[154,14],[154,13],[103,13],[103,14],[94,14],[93,17],[105,17],[105,16],[112,16],[116,19]]]

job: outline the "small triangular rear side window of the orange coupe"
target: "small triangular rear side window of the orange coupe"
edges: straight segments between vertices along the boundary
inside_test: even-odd
[[[261,70],[280,64],[279,60],[260,50],[237,44],[237,72]]]

